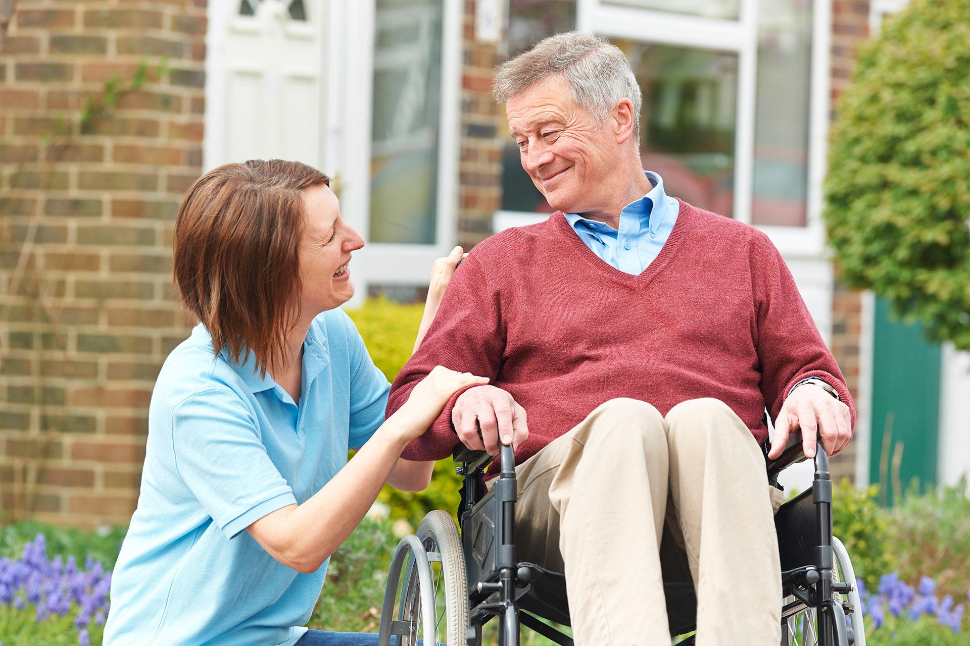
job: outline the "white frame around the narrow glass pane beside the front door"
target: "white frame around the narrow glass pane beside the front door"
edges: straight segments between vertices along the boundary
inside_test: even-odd
[[[427,285],[434,261],[455,244],[458,213],[459,128],[463,6],[443,0],[441,21],[440,124],[437,144],[436,228],[434,244],[370,241],[371,119],[373,97],[374,0],[331,0],[328,34],[331,66],[328,122],[331,142],[327,168],[336,169],[344,219],[367,240],[355,252],[353,307],[374,283]]]

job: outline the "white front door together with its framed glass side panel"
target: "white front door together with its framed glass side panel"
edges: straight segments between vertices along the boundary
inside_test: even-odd
[[[216,0],[205,169],[305,162],[367,240],[351,304],[428,284],[455,239],[460,0]]]

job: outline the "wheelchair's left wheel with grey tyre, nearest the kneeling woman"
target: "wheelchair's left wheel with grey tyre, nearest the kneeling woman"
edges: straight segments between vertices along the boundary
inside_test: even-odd
[[[404,576],[401,576],[404,569]],[[399,590],[400,582],[400,590]],[[458,527],[446,512],[425,516],[404,537],[391,562],[378,644],[391,634],[397,646],[464,644],[469,626],[469,582]]]

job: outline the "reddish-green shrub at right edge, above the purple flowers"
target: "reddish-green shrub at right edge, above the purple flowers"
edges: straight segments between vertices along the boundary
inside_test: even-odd
[[[900,578],[933,577],[939,594],[956,599],[965,599],[970,587],[970,498],[965,485],[922,496],[910,490],[890,511],[889,539]]]

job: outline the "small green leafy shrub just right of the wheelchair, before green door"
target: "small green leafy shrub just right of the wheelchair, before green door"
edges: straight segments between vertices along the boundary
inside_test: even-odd
[[[832,492],[832,533],[842,540],[852,558],[856,576],[868,589],[894,569],[889,554],[889,513],[879,507],[879,485],[858,489],[843,477]]]

